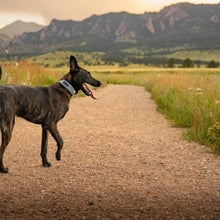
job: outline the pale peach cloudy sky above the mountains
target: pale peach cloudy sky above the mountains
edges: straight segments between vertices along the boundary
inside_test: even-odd
[[[220,0],[0,0],[0,28],[16,20],[48,25],[53,18],[80,21],[108,12],[156,12],[180,2],[216,4]]]

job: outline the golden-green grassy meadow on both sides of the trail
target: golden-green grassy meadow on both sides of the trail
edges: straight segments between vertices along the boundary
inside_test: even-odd
[[[86,67],[87,68],[87,67]],[[146,66],[90,66],[107,84],[140,85],[152,94],[158,110],[174,126],[187,128],[186,138],[220,154],[220,69],[163,69]],[[67,65],[44,68],[28,61],[5,63],[1,83],[48,85],[68,72]]]

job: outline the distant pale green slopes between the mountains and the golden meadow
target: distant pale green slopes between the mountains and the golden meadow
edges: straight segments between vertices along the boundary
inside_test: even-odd
[[[124,51],[104,52],[75,52],[75,51],[55,51],[48,54],[32,57],[30,62],[49,68],[59,68],[68,66],[69,56],[73,54],[77,57],[83,66],[129,66],[130,63],[145,66],[166,67],[168,60],[175,59],[175,66],[181,66],[181,63],[189,58],[195,62],[195,66],[205,67],[207,62],[212,60],[220,63],[220,50],[179,50],[158,49],[152,51],[143,51],[138,48],[132,48]]]

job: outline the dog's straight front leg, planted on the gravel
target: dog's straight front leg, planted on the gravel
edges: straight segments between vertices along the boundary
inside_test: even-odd
[[[50,167],[51,163],[47,160],[47,143],[48,143],[48,131],[44,125],[42,125],[42,142],[41,142],[41,158],[44,167]]]

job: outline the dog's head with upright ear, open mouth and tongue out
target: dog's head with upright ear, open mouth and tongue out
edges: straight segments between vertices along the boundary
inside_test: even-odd
[[[71,84],[76,90],[76,93],[79,90],[82,90],[83,93],[87,96],[93,96],[92,91],[88,88],[86,83],[90,84],[91,86],[99,87],[101,86],[101,82],[93,78],[87,70],[81,68],[78,65],[78,62],[74,56],[70,56],[70,75],[71,75]]]

